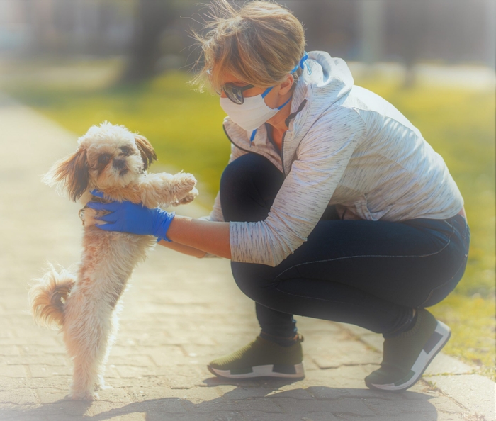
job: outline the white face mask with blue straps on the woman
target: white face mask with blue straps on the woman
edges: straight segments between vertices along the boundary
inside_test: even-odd
[[[269,94],[271,89],[266,89],[263,94],[244,98],[244,103],[242,104],[237,104],[229,98],[221,97],[220,106],[237,125],[244,128],[244,130],[252,131],[274,117],[291,100],[286,101],[286,103],[283,103],[278,108],[270,108],[265,103],[264,98],[266,94]]]

